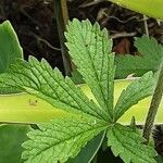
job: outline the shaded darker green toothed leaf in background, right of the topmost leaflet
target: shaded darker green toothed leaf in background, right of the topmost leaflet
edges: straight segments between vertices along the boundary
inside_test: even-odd
[[[117,55],[116,78],[125,78],[135,73],[136,76],[142,76],[149,71],[159,70],[161,58],[163,58],[163,46],[159,45],[154,38],[142,36],[137,38],[135,46],[141,55]]]

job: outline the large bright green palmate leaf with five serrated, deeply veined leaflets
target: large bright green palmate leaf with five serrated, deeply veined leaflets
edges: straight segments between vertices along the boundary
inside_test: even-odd
[[[127,127],[115,124],[115,120],[123,112],[151,92],[153,83],[151,84],[149,80],[152,75],[146,74],[130,85],[122,96],[122,98],[124,95],[126,99],[128,98],[129,104],[123,108],[124,100],[121,99],[114,111],[114,55],[111,53],[111,41],[108,42],[106,30],[101,32],[99,25],[91,26],[88,21],[79,23],[75,20],[70,23],[66,37],[70,53],[96,97],[98,105],[89,101],[80,88],[75,86],[68,77],[64,78],[57,68],[52,70],[45,60],[38,62],[30,57],[28,62],[20,61],[18,64],[13,65],[7,74],[8,78],[4,75],[5,85],[16,86],[71,114],[71,116],[68,114],[64,117],[54,117],[49,123],[38,125],[39,129],[30,131],[29,140],[23,143],[25,148],[23,159],[27,163],[66,162],[68,158],[76,156],[90,139],[109,128],[109,146],[112,146],[114,153],[121,154],[124,161],[135,161],[146,147],[145,160],[150,160],[148,163],[155,163],[152,159],[155,154],[154,150],[142,145],[142,140],[137,134],[128,130]],[[2,82],[4,78],[2,77]],[[138,91],[141,93],[138,95]],[[136,97],[131,92],[135,92]],[[131,95],[135,101],[130,100],[128,95]],[[109,135],[111,135],[111,140]],[[128,148],[128,146],[122,148],[123,146],[120,143],[126,145],[127,135],[130,136],[129,145],[135,148],[135,153],[133,153],[133,148]],[[121,137],[122,141],[116,139]],[[117,146],[113,146],[112,140],[115,140],[115,145],[120,145],[120,150]],[[138,148],[135,146],[137,143]],[[146,152],[149,152],[149,155]],[[141,156],[139,160],[141,163]]]

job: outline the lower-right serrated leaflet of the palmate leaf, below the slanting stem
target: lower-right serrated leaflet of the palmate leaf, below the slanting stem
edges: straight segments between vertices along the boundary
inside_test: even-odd
[[[114,155],[120,155],[125,163],[156,163],[154,149],[143,145],[145,139],[131,128],[115,124],[106,136]]]

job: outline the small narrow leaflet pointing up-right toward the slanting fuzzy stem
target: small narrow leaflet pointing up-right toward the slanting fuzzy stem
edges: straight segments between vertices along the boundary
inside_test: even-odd
[[[145,74],[141,78],[134,80],[122,91],[114,108],[115,122],[134,104],[152,95],[155,77],[152,72]]]

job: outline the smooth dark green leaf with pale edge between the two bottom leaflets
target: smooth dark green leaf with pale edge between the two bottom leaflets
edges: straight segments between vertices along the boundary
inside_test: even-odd
[[[70,160],[67,163],[90,163],[101,147],[104,136],[105,131],[100,133],[80,150],[76,158]]]

